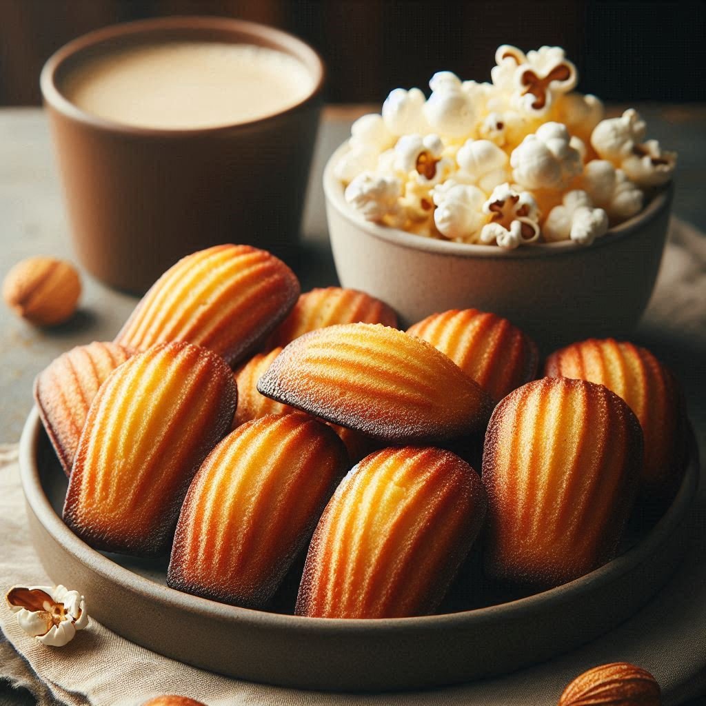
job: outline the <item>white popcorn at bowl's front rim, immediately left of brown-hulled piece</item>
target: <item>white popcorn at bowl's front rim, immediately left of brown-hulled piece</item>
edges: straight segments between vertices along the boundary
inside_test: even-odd
[[[477,186],[457,184],[448,179],[432,191],[434,223],[450,240],[473,242],[487,220],[482,208],[486,195]]]

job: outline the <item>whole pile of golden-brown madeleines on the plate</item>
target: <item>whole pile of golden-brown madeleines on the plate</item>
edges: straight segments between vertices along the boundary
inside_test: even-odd
[[[250,246],[184,258],[114,342],[37,376],[64,521],[254,608],[308,547],[297,614],[388,618],[438,609],[474,544],[496,595],[528,594],[610,561],[635,503],[669,506],[686,416],[647,350],[575,343],[536,379],[537,347],[493,313],[396,326],[362,292],[300,296]]]

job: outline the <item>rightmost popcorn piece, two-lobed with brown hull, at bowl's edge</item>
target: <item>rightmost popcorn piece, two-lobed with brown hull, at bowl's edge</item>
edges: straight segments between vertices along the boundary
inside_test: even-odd
[[[657,140],[642,142],[646,131],[645,121],[630,108],[619,118],[599,122],[591,144],[602,160],[622,169],[638,186],[660,186],[674,174],[676,152],[662,150]]]

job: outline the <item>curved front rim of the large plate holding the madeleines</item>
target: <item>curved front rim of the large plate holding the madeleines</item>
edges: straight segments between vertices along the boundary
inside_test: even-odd
[[[37,448],[42,433],[37,407],[32,407],[20,438],[19,465],[20,477],[25,493],[25,501],[37,519],[42,523],[61,547],[73,556],[83,559],[87,567],[103,578],[120,585],[127,592],[139,591],[157,605],[182,609],[192,614],[208,618],[238,621],[255,628],[287,630],[305,636],[311,633],[335,634],[346,630],[349,634],[377,636],[389,634],[419,633],[443,628],[469,629],[496,623],[498,616],[513,618],[527,611],[542,612],[569,598],[578,598],[592,592],[597,587],[609,584],[640,565],[666,538],[681,524],[693,503],[698,487],[699,458],[693,430],[689,426],[688,462],[682,484],[673,503],[641,542],[624,554],[604,564],[594,571],[569,583],[533,594],[512,602],[484,608],[412,618],[308,618],[289,614],[271,613],[254,609],[231,606],[210,599],[193,596],[158,584],[112,561],[99,551],[92,549],[78,539],[64,525],[49,502],[42,487],[40,469],[37,463]]]

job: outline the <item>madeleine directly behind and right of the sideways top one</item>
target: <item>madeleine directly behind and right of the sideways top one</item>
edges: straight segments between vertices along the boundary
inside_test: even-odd
[[[494,313],[451,309],[415,323],[407,333],[448,355],[496,401],[537,373],[537,346],[517,326]]]

